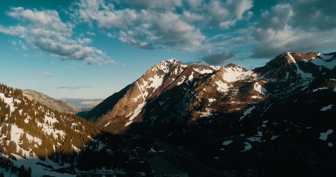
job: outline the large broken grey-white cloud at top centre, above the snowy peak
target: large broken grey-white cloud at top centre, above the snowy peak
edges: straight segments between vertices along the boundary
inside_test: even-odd
[[[235,26],[252,6],[251,0],[80,0],[71,12],[79,22],[96,24],[129,46],[195,51],[206,39],[202,31]]]

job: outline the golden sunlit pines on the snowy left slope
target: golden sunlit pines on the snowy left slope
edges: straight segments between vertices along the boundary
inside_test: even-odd
[[[12,106],[15,108],[11,111],[10,105],[3,98],[0,99],[0,146],[5,147],[9,155],[13,153],[26,158],[27,155],[23,153],[25,150],[29,151],[30,155],[35,153],[41,160],[48,157],[56,163],[74,164],[78,157],[78,149],[84,149],[85,145],[101,132],[99,127],[81,117],[61,113],[38,101],[29,100],[22,90],[0,83],[0,93],[4,93],[6,98],[13,98]],[[45,120],[46,116],[51,117],[52,121]],[[20,149],[16,149],[16,142],[11,141],[12,125],[25,132],[20,135]],[[54,133],[46,132],[47,127],[51,127]],[[27,133],[41,139],[42,144],[36,143],[34,138],[29,139]]]

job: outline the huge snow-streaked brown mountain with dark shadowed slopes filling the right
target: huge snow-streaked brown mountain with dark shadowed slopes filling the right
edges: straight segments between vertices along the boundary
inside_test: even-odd
[[[85,118],[182,145],[220,170],[336,174],[335,58],[287,52],[253,70],[162,61]]]

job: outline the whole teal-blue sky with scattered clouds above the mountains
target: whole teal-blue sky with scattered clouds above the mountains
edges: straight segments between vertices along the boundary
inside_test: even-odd
[[[333,0],[0,0],[0,82],[105,99],[154,64],[253,69],[335,52]]]

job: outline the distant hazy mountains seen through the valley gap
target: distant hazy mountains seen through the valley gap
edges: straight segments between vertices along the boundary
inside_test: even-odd
[[[89,111],[103,101],[103,99],[81,99],[81,98],[56,98],[55,100],[66,100],[82,111]]]

